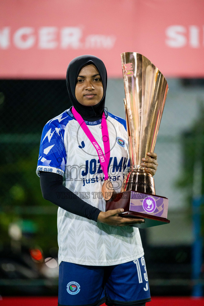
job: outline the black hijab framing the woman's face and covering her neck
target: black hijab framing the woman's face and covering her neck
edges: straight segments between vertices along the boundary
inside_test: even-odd
[[[93,106],[85,106],[80,104],[75,97],[75,87],[78,74],[84,65],[93,64],[98,69],[103,84],[103,97],[101,101]],[[107,72],[106,67],[100,58],[93,55],[81,55],[74,58],[67,68],[67,90],[72,105],[84,120],[95,121],[102,118],[106,98]]]

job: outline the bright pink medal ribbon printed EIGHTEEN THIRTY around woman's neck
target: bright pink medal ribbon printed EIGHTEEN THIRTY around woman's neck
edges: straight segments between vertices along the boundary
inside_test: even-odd
[[[74,106],[72,106],[72,114],[74,115],[74,118],[76,119],[76,121],[80,124],[81,128],[83,129],[88,139],[91,141],[91,143],[95,147],[98,153],[101,168],[104,173],[104,181],[108,180],[108,165],[109,165],[109,160],[110,160],[110,143],[109,143],[108,127],[107,127],[105,114],[104,113],[102,114],[102,121],[101,121],[102,139],[103,139],[105,154],[103,153],[98,142],[95,140],[94,136],[91,134],[91,131],[87,127],[81,115],[75,110]]]

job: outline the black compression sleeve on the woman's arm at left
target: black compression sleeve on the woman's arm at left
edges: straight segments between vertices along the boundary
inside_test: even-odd
[[[40,187],[43,198],[75,215],[97,221],[101,211],[84,202],[63,186],[62,182],[63,177],[60,174],[40,171]]]

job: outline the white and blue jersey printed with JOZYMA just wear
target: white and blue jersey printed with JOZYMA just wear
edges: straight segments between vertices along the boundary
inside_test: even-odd
[[[109,132],[109,180],[120,192],[127,166],[128,136],[125,120],[105,111]],[[85,121],[104,152],[101,119]],[[102,197],[104,174],[98,154],[71,110],[47,122],[40,143],[37,174],[53,172],[63,176],[63,184],[87,203],[105,211]],[[59,194],[59,196],[63,196]],[[74,205],[74,199],[73,199]],[[109,226],[58,209],[59,263],[66,261],[90,266],[111,266],[143,256],[138,228]]]

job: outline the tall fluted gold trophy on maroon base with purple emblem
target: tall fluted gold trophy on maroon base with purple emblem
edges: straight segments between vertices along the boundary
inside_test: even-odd
[[[121,192],[113,193],[106,211],[124,208],[123,217],[144,218],[139,228],[169,223],[168,199],[155,194],[154,179],[141,165],[147,152],[154,152],[168,84],[163,74],[145,56],[121,54],[125,89],[125,114],[130,168],[124,175]]]

